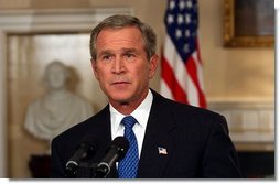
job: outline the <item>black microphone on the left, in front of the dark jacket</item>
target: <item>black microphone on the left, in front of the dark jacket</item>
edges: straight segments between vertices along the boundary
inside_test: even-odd
[[[93,156],[97,150],[98,142],[91,134],[85,136],[78,144],[76,152],[66,163],[66,176],[75,177],[82,159]]]

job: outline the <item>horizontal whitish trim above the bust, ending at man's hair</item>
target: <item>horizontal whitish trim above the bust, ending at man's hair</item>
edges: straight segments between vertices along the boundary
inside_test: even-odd
[[[89,31],[111,14],[132,14],[130,8],[3,10],[0,26],[6,32]]]

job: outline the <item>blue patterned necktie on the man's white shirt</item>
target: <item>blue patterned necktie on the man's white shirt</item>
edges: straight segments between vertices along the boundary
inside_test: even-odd
[[[138,170],[138,145],[137,138],[132,130],[137,120],[132,116],[127,116],[121,120],[125,126],[125,137],[129,141],[129,149],[126,156],[119,162],[119,178],[136,178]]]

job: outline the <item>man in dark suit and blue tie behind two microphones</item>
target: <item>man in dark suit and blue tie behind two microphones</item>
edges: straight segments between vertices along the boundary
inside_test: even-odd
[[[122,119],[128,116],[136,119],[138,155],[136,169],[126,171],[136,171],[131,177],[241,177],[223,116],[169,100],[149,88],[159,62],[155,47],[152,29],[130,15],[109,17],[93,30],[93,69],[109,104],[52,141],[52,177],[65,177],[65,164],[86,134],[95,136],[99,145],[90,162],[100,162],[111,140],[126,136]],[[129,143],[131,148],[130,139]],[[130,148],[123,162],[133,152]],[[126,177],[120,174],[121,162],[107,177]]]

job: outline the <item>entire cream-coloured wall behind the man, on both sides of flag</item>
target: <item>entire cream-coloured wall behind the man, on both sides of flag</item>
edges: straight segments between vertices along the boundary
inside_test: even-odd
[[[200,0],[200,42],[208,101],[273,101],[274,50],[223,47],[223,0]],[[0,9],[131,7],[163,44],[164,0],[0,0]],[[151,86],[159,89],[160,69]]]

